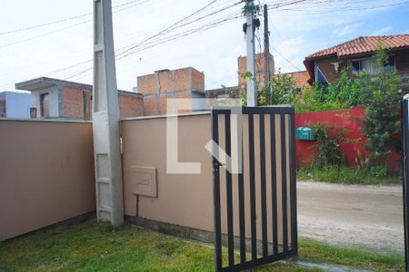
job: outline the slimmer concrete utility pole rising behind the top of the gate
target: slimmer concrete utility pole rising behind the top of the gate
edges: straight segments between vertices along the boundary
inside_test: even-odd
[[[246,0],[244,5],[246,22],[246,42],[247,42],[247,72],[253,75],[253,79],[247,79],[247,106],[257,106],[257,95],[255,93],[255,49],[254,49],[254,0]]]

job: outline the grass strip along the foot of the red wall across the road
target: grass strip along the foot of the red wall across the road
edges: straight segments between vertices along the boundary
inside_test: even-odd
[[[360,185],[392,185],[402,183],[400,173],[390,173],[384,177],[376,177],[367,171],[354,170],[346,167],[328,167],[323,169],[300,168],[297,170],[297,180],[316,180],[330,183]]]

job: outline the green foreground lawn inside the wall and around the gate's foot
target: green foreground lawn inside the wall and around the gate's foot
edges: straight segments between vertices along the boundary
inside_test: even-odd
[[[338,248],[300,238],[300,259],[398,271],[404,258]],[[214,248],[193,241],[125,225],[112,228],[94,219],[39,230],[0,243],[5,271],[213,271]],[[254,271],[320,271],[295,266],[294,260]]]

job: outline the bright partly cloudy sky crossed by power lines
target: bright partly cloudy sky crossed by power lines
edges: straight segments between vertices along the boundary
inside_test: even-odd
[[[205,89],[236,85],[237,57],[245,55],[239,2],[113,0],[118,88],[131,91],[139,75],[188,66],[205,73]],[[0,0],[0,92],[40,76],[92,84],[92,3]],[[304,70],[306,55],[358,36],[409,34],[407,0],[256,3],[270,8],[276,72]],[[264,50],[263,27],[256,53]]]

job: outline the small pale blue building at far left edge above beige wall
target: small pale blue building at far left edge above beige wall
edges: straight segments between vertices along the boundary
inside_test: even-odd
[[[29,92],[0,92],[0,118],[30,118]]]

